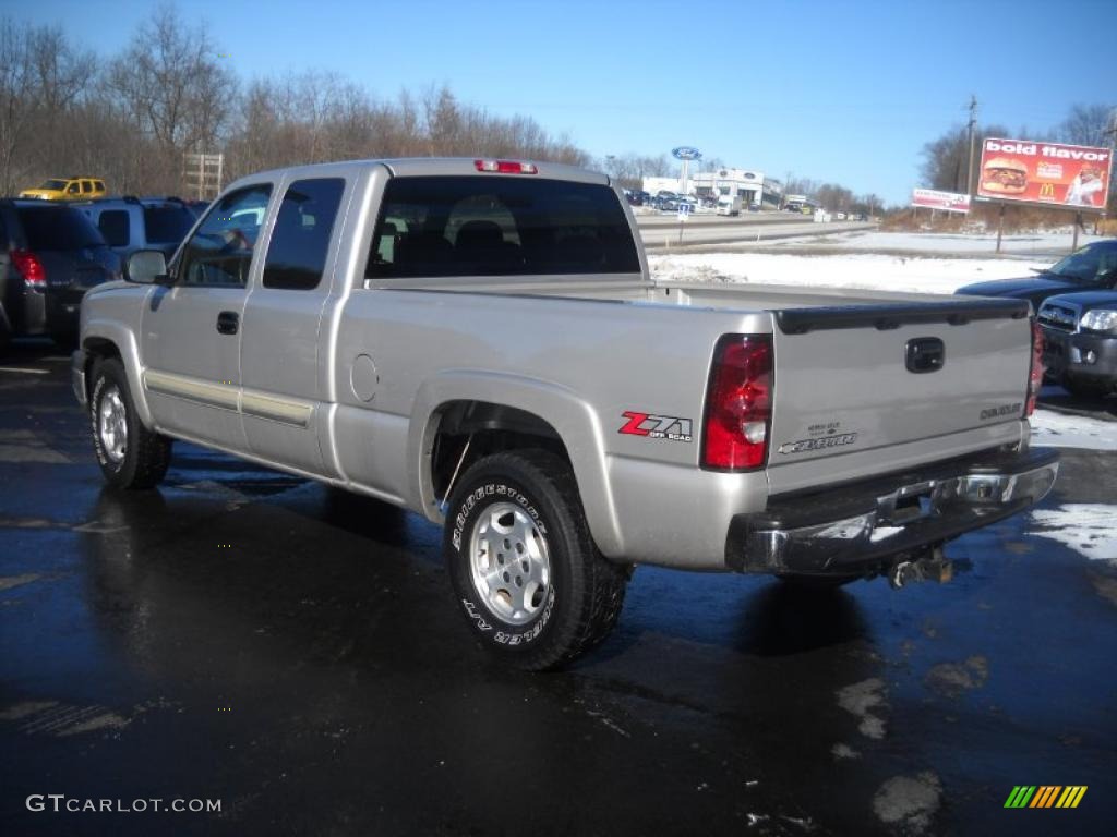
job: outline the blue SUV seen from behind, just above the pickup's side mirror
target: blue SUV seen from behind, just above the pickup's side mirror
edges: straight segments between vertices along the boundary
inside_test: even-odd
[[[80,209],[122,259],[136,250],[162,250],[170,258],[198,220],[179,198],[106,198]]]

